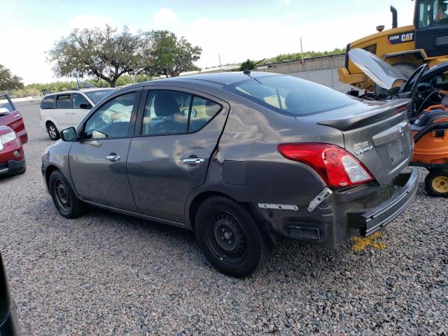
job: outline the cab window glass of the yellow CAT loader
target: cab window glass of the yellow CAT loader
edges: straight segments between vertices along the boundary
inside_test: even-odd
[[[419,28],[448,24],[448,0],[420,0]]]

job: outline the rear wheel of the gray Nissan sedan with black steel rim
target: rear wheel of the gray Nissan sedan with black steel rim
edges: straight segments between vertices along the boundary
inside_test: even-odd
[[[209,197],[200,204],[195,233],[207,260],[228,276],[252,274],[269,255],[267,236],[251,211],[228,197]]]

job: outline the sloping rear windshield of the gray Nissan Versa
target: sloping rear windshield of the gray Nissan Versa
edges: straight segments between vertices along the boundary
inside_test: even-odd
[[[310,116],[357,102],[329,87],[292,76],[249,78],[225,85],[225,89],[288,116]]]

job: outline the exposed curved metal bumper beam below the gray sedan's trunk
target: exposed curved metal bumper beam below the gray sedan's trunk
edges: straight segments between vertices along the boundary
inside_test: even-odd
[[[363,236],[372,235],[405,211],[419,186],[418,170],[412,169],[410,173],[400,174],[393,185],[398,191],[386,202],[372,209],[349,211],[346,215],[349,228],[359,230]]]

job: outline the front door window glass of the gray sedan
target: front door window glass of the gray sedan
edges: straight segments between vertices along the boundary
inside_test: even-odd
[[[106,102],[85,123],[84,139],[127,137],[137,92]]]

